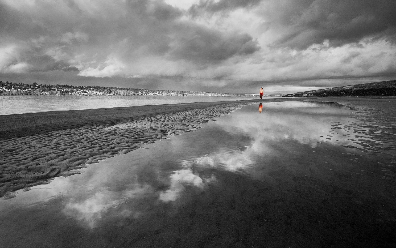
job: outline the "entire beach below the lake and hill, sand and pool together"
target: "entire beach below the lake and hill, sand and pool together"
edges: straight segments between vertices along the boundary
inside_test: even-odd
[[[395,109],[327,97],[0,116],[0,239],[392,247]]]

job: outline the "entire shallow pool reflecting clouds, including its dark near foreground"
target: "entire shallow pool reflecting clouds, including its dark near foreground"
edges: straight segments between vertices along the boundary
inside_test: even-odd
[[[1,198],[1,244],[391,247],[396,153],[367,133],[365,114],[315,102],[245,106]]]

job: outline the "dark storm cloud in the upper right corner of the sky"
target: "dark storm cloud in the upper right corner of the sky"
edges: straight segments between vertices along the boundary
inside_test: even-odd
[[[285,2],[283,2],[285,3]],[[362,38],[396,40],[394,0],[300,0],[284,4],[283,14],[266,10],[273,28],[284,29],[274,46],[305,49],[329,40],[329,46],[359,42]],[[280,7],[282,3],[275,4]],[[282,27],[283,26],[283,27]]]

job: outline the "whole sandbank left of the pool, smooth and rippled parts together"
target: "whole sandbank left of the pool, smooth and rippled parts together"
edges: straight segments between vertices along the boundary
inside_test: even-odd
[[[0,197],[69,176],[89,163],[200,128],[258,101],[204,102],[0,116]]]

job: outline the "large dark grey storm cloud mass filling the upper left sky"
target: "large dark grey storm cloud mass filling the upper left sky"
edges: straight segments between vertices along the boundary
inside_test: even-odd
[[[121,73],[122,63],[131,58],[162,56],[219,63],[259,50],[251,35],[181,21],[183,12],[160,0],[38,1],[30,8],[2,7],[0,35],[17,44],[8,66],[28,63],[24,71],[81,71],[89,67],[96,68],[96,74],[84,75],[103,76],[107,74],[100,70],[109,65],[106,61],[111,56],[120,64],[120,68],[109,70],[112,76]]]

